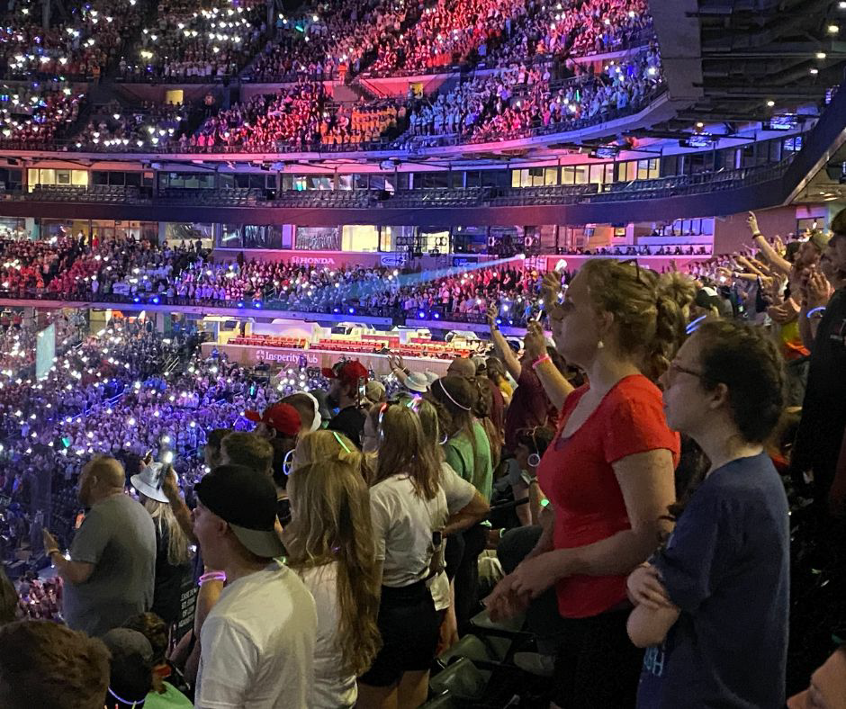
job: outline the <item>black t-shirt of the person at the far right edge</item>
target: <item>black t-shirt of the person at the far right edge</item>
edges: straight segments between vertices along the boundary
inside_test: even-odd
[[[844,428],[846,288],[841,288],[829,301],[811,347],[802,420],[792,459],[795,476],[814,471],[814,493],[818,501],[822,501],[831,488]]]

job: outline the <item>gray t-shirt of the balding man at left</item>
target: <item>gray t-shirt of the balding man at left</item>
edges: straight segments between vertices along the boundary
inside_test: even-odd
[[[89,635],[103,635],[153,603],[156,530],[148,512],[128,495],[98,502],[70,545],[70,558],[94,564],[87,581],[66,583],[67,624]]]

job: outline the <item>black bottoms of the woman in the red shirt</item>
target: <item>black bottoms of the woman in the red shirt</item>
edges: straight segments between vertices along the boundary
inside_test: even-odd
[[[556,705],[590,709],[635,706],[644,651],[635,648],[626,633],[630,612],[563,618],[563,642],[555,658]]]

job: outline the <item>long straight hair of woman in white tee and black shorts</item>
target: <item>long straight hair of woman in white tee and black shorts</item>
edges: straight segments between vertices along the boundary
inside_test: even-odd
[[[408,475],[421,498],[437,496],[440,465],[432,454],[420,426],[420,419],[406,406],[387,406],[379,426],[379,457],[373,484],[393,475]]]

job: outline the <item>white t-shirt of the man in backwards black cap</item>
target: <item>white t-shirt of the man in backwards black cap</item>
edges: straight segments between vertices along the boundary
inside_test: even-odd
[[[307,709],[314,678],[314,599],[278,561],[234,581],[200,633],[198,709]]]

